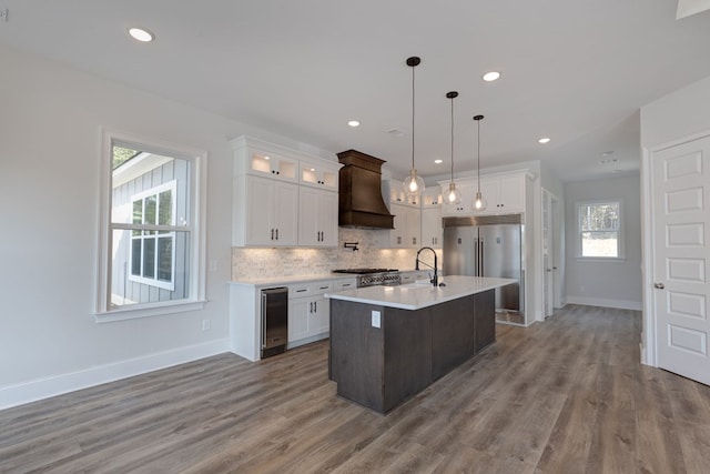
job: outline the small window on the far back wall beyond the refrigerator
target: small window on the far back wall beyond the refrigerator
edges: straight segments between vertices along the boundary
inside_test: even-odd
[[[621,202],[577,203],[578,252],[587,259],[621,259]]]

